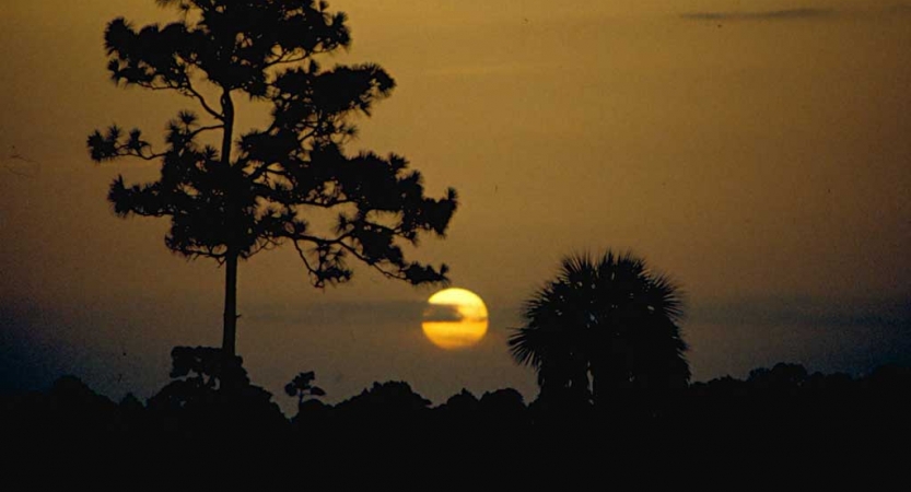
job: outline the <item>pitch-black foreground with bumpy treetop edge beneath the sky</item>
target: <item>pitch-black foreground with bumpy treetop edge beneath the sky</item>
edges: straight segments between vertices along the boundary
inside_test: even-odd
[[[653,470],[642,481],[691,467],[757,480],[782,470],[832,479],[861,464],[881,475],[911,462],[907,367],[852,378],[779,364],[746,380],[618,394],[606,408],[542,398],[526,405],[513,389],[480,398],[463,391],[431,407],[408,384],[388,382],[335,406],[304,399],[291,418],[248,383],[229,390],[185,376],[145,402],[114,402],[72,376],[47,391],[3,396],[0,435],[13,458],[4,466],[219,470],[212,477],[221,480],[266,467],[302,483],[347,470],[329,477],[363,483],[392,480],[388,473],[569,480],[640,467]]]

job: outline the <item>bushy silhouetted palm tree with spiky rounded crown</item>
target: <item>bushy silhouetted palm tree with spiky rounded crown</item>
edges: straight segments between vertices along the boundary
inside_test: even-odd
[[[689,382],[679,289],[629,253],[564,258],[557,278],[526,301],[523,317],[510,351],[538,373],[541,397],[597,406],[618,390]]]

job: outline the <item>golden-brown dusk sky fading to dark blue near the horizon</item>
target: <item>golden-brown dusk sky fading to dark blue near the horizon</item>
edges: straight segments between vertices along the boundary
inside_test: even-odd
[[[291,248],[241,265],[238,352],[281,395],[315,371],[329,402],[406,380],[537,395],[506,350],[522,302],[572,253],[631,250],[686,293],[694,379],[775,362],[862,374],[911,364],[911,3],[861,0],[335,0],[397,81],[349,152],[405,155],[459,194],[446,262],[490,328],[447,352],[421,332],[432,288],[366,269],[316,290]],[[0,390],[72,373],[119,398],[167,382],[174,345],[219,345],[223,270],[114,215],[96,128],[163,134],[190,99],[117,87],[108,21],[152,0],[0,4]],[[241,128],[262,108],[241,105]],[[283,401],[288,399],[289,401]]]

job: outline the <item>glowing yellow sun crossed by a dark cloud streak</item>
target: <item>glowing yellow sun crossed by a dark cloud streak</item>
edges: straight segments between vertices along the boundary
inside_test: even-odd
[[[458,350],[471,347],[487,333],[487,306],[466,289],[445,289],[427,301],[421,328],[436,347]]]

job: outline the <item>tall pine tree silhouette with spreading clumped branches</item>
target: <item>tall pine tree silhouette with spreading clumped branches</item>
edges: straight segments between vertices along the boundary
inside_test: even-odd
[[[422,232],[443,236],[456,194],[424,196],[421,174],[398,155],[342,145],[355,134],[352,116],[370,116],[395,81],[376,65],[323,69],[318,59],[347,48],[342,13],[313,0],[156,0],[182,20],[135,28],[107,25],[108,70],[116,83],[173,91],[192,99],[206,121],[183,110],[168,124],[161,152],[112,126],[89,137],[96,162],[161,161],[161,178],[110,185],[120,216],[168,216],[165,245],[225,266],[222,349],[235,354],[237,261],[291,243],[316,286],[351,279],[350,258],[413,284],[445,281],[446,266],[409,262],[401,243]],[[262,129],[235,134],[235,98],[271,105]],[[218,103],[213,101],[218,99]],[[220,148],[201,140],[220,141]],[[308,219],[329,219],[318,227]],[[325,221],[324,221],[325,222]]]

